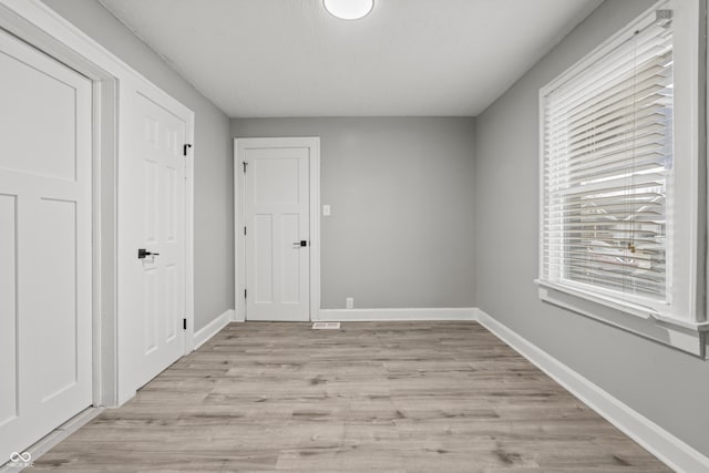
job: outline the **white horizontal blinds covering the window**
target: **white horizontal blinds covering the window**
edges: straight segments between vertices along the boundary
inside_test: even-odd
[[[542,280],[668,300],[672,92],[671,10],[543,91]]]

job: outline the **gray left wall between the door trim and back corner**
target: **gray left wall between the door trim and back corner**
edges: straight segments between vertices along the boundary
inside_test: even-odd
[[[229,119],[95,0],[44,0],[59,14],[195,112],[195,330],[234,307]]]

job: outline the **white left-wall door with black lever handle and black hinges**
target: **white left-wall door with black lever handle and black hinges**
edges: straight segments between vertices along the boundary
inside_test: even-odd
[[[185,351],[186,121],[138,90],[124,94],[129,152],[119,163],[119,370],[130,395]]]

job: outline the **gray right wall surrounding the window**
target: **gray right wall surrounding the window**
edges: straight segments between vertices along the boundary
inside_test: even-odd
[[[705,455],[709,362],[542,304],[538,90],[653,0],[606,1],[477,119],[479,307]]]

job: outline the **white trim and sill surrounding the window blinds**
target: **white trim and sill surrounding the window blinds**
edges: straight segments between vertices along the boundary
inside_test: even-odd
[[[688,253],[685,257],[689,267],[685,271],[685,280],[676,281],[676,284],[687,285],[686,307],[681,308],[681,313],[668,316],[648,307],[615,298],[612,294],[603,294],[604,291],[602,290],[585,290],[585,285],[582,284],[559,284],[543,279],[544,96],[549,90],[587,68],[589,63],[605,54],[610,48],[624,41],[628,30],[635,28],[644,18],[666,3],[668,3],[668,0],[654,4],[653,8],[638,16],[627,27],[540,90],[540,278],[535,279],[535,282],[538,285],[538,295],[543,301],[701,358],[708,358],[709,321],[707,320],[705,300],[705,295],[709,294],[709,286],[705,275],[708,266],[706,251],[708,220],[706,78],[709,75],[706,58],[706,52],[709,49],[706,42],[707,0],[690,0],[691,4],[688,8],[691,8],[696,13],[693,16],[696,21],[692,21],[691,25],[681,25],[681,32],[677,34],[680,38],[676,41],[676,44],[679,43],[681,45],[674,50],[675,54],[679,55],[679,61],[685,61],[688,64],[688,68],[684,69],[681,73],[686,74],[691,83],[689,93],[686,93],[685,96],[679,96],[679,99],[676,96],[676,101],[684,101],[685,110],[688,113],[678,114],[675,117],[675,130],[681,128],[682,133],[686,133],[685,137],[676,136],[676,143],[679,142],[679,146],[684,146],[684,148],[677,151],[677,154],[681,153],[682,156],[689,156],[681,160],[680,166],[690,166],[689,169],[684,171],[684,175],[691,176],[690,183],[682,181],[685,195],[679,198],[680,202],[688,202],[688,205],[682,206],[686,208],[682,218],[686,219],[684,228],[689,230],[687,236]],[[688,48],[687,44],[690,47]],[[689,136],[689,138],[686,138],[686,136]]]

